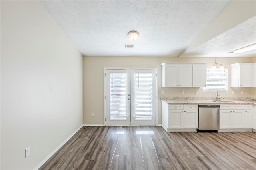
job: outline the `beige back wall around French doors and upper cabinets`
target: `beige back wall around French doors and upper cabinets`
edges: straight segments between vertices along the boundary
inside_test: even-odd
[[[230,64],[252,61],[252,58],[216,58],[217,63],[230,68]],[[104,67],[128,67],[128,68],[158,68],[158,124],[161,124],[161,101],[160,97],[216,97],[216,93],[204,93],[202,88],[196,87],[161,87],[161,63],[164,62],[189,62],[207,63],[211,67],[214,58],[203,57],[84,57],[84,124],[103,124],[104,117]],[[230,71],[228,71],[230,77]],[[255,88],[230,88],[228,79],[228,92],[221,92],[223,97],[251,97],[251,89]],[[161,95],[164,90],[164,95]],[[181,90],[185,94],[181,94]],[[199,90],[196,95],[195,91]],[[232,95],[232,90],[235,94]],[[244,91],[241,95],[240,91]],[[92,112],[95,117],[92,117]]]

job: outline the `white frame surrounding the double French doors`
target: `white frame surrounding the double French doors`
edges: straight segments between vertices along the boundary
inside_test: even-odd
[[[103,125],[104,126],[120,126],[106,125],[106,70],[156,70],[156,126],[158,126],[158,68],[126,68],[126,67],[104,67],[104,105],[103,105]],[[138,126],[138,125],[122,125],[122,126]]]

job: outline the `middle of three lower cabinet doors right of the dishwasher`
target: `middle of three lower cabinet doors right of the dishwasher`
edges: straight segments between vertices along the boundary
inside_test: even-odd
[[[232,111],[232,128],[244,128],[244,110]]]

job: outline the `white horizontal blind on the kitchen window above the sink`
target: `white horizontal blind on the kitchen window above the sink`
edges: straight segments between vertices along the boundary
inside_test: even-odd
[[[228,91],[228,68],[207,68],[206,87],[203,91]]]

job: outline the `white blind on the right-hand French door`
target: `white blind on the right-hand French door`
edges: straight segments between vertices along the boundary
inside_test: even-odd
[[[152,73],[135,73],[135,119],[152,117]]]

